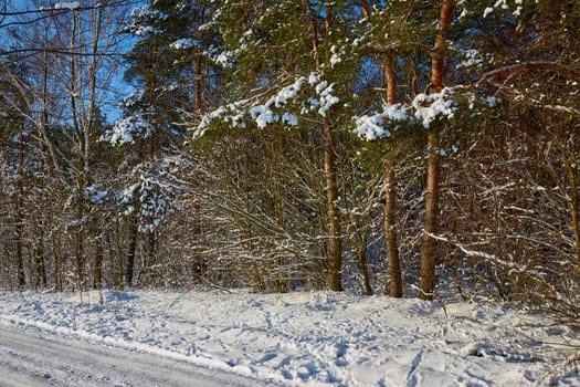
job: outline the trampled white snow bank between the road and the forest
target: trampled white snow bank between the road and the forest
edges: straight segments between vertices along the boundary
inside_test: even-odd
[[[566,365],[578,358],[573,330],[483,302],[442,307],[326,292],[0,293],[1,326],[266,385],[580,386]],[[6,362],[0,356],[0,375]]]

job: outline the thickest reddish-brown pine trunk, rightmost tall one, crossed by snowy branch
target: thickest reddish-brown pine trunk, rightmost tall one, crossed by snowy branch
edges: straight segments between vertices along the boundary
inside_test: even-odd
[[[431,54],[431,93],[437,93],[443,86],[445,36],[449,33],[451,17],[455,7],[455,0],[445,0],[441,6],[439,20],[439,34],[435,38],[435,46]],[[433,300],[435,291],[435,258],[436,240],[432,237],[439,228],[439,186],[440,186],[440,134],[436,129],[428,133],[428,171],[426,171],[426,198],[425,198],[425,224],[423,243],[421,245],[421,279],[419,297]]]

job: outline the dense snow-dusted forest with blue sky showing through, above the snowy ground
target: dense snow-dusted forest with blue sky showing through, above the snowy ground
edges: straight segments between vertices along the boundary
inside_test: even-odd
[[[578,1],[0,3],[1,287],[579,313]]]

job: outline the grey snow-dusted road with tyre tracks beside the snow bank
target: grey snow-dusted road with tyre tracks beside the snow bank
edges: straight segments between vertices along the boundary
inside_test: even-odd
[[[0,386],[256,386],[257,380],[155,354],[14,327],[0,330]]]

